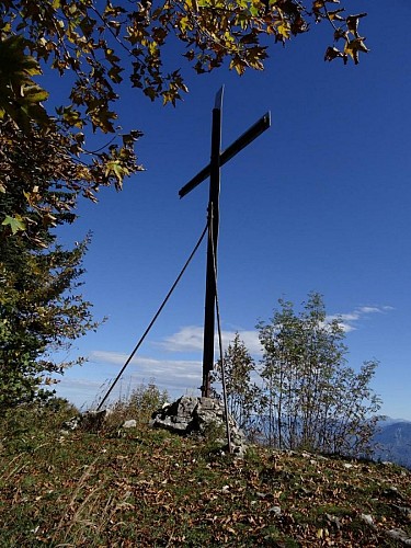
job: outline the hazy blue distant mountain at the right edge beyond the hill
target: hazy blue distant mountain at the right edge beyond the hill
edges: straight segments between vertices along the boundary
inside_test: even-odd
[[[387,418],[378,423],[373,441],[377,444],[374,459],[390,460],[411,469],[411,422]]]

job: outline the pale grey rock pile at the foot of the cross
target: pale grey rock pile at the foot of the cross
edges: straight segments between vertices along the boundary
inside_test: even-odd
[[[224,429],[222,432],[226,432],[224,403],[214,398],[183,396],[173,403],[155,411],[150,426],[180,435],[206,436],[210,427]],[[231,452],[237,456],[243,456],[247,450],[246,436],[231,416],[229,416],[229,429]]]

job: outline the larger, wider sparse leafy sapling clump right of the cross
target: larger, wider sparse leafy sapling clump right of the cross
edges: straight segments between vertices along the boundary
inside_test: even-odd
[[[346,365],[344,331],[327,321],[311,293],[297,316],[292,302],[260,322],[261,376],[267,441],[281,448],[361,455],[369,448],[380,400],[369,387],[377,363],[358,374]]]

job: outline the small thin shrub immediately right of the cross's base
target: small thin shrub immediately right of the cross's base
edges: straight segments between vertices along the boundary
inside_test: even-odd
[[[228,412],[247,431],[258,410],[260,389],[251,378],[255,370],[254,359],[238,333],[224,354],[224,367]],[[213,380],[222,381],[220,359],[216,364]]]

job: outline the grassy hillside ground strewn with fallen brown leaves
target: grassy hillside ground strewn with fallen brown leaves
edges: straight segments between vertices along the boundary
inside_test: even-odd
[[[119,418],[64,436],[67,413],[2,418],[0,546],[411,544],[411,472],[398,466],[259,447],[233,459],[213,436],[144,421],[123,432]]]

